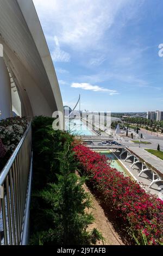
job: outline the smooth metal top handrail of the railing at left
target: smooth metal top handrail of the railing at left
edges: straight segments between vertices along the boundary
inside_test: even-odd
[[[20,150],[21,148],[21,145],[23,144],[24,142],[24,139],[26,138],[27,136],[27,133],[30,129],[30,126],[31,126],[31,121],[30,123],[28,124],[28,127],[27,127],[27,130],[24,132],[24,135],[23,137],[21,138],[21,141],[18,143],[16,149],[14,150],[14,153],[10,156],[7,164],[5,164],[5,167],[2,169],[1,173],[0,173],[0,186],[2,186],[2,184],[4,183],[5,181],[5,178],[7,177],[8,173],[9,173],[9,170],[12,166],[12,164],[14,163],[14,160],[15,160],[15,157],[17,156],[17,153],[18,151]]]

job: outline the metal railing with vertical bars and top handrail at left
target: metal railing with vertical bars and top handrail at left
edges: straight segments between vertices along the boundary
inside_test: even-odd
[[[20,143],[0,174],[0,245],[20,245],[26,219],[32,161],[32,131],[29,124]],[[3,233],[3,236],[2,236]]]

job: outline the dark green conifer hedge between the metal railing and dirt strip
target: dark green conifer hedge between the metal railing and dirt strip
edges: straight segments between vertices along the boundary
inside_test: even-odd
[[[73,136],[52,129],[52,119],[33,121],[34,182],[31,216],[32,245],[88,245],[103,237],[87,231],[93,223],[85,178],[75,173]],[[51,125],[50,125],[51,123]]]

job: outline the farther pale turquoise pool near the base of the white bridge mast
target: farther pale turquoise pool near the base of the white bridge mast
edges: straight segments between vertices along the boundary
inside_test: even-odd
[[[93,136],[94,134],[83,124],[80,119],[72,119],[66,123],[66,129],[70,131],[73,135],[87,135]]]

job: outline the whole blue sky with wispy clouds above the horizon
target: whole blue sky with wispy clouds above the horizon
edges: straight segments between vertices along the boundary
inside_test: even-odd
[[[64,105],[163,111],[162,0],[33,0]]]

